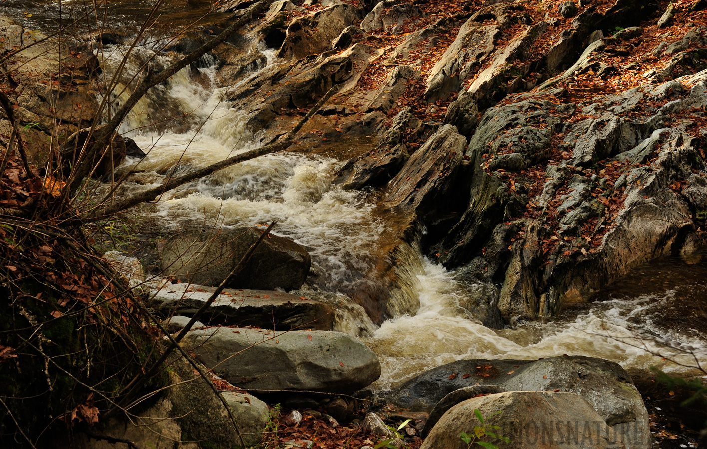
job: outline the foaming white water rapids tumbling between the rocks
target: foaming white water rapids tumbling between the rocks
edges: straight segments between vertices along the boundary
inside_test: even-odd
[[[104,66],[117,64],[121,51],[106,54]],[[126,73],[136,73],[139,61],[154,54],[148,49],[136,53]],[[277,64],[273,52],[265,53],[269,64]],[[214,73],[213,67],[198,73],[189,68],[180,71],[141,100],[124,124],[121,131],[148,152],[144,160],[128,162],[145,170],[143,183],[158,183],[173,170],[203,167],[259,144],[257,136],[247,133],[243,114],[223,101],[226,88],[216,85]],[[128,90],[123,99],[126,95]],[[177,115],[179,119],[169,120]],[[376,215],[375,203],[366,193],[345,191],[332,183],[341,164],[293,152],[259,157],[168,193],[158,204],[158,214],[171,227],[253,226],[278,220],[276,234],[310,252],[315,269],[322,272],[320,287],[332,292],[370,287],[373,281],[366,274],[375,266],[369,255],[380,248],[388,224]],[[368,330],[361,339],[378,354],[383,367],[376,388],[389,388],[462,358],[582,354],[626,368],[658,366],[685,372],[690,369],[678,364],[694,366],[692,352],[707,364],[707,345],[699,333],[687,335],[655,319],[677,301],[675,289],[656,287],[652,294],[585,304],[559,318],[493,330],[464,309],[468,295],[480,286],[465,285],[419,251],[412,249],[407,256],[408,288],[402,293],[419,299],[419,311],[390,319],[380,328],[361,313],[349,313],[337,325],[343,331]]]

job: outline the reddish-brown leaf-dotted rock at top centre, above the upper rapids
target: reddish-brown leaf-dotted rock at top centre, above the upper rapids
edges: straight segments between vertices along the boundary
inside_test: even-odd
[[[301,59],[332,48],[332,41],[344,28],[361,18],[361,10],[346,4],[328,8],[292,20],[278,55],[284,59]]]

